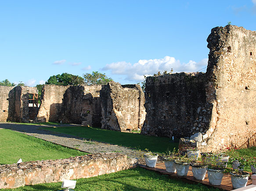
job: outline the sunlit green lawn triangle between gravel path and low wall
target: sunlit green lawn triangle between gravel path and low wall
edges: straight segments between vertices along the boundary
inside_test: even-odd
[[[0,164],[22,161],[55,160],[87,153],[37,139],[9,129],[0,129]]]

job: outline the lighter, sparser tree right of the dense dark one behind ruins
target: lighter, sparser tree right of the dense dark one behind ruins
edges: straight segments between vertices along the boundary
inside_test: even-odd
[[[88,86],[91,85],[106,85],[112,81],[112,78],[108,78],[105,73],[93,72],[92,74],[83,74],[84,82]]]

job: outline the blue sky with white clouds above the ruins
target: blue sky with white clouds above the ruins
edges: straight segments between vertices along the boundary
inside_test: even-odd
[[[129,84],[196,72],[211,29],[229,21],[256,31],[256,0],[0,0],[0,81],[99,71]]]

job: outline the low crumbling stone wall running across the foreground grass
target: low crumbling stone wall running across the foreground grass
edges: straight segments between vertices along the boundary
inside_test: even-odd
[[[98,153],[61,160],[37,160],[0,166],[0,189],[95,177],[137,166],[119,153]]]

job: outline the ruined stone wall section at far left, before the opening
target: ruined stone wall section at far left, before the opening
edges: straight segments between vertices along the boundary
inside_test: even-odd
[[[0,86],[0,121],[29,122],[36,107],[29,107],[29,94],[36,94],[36,87]]]

